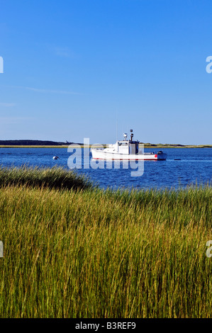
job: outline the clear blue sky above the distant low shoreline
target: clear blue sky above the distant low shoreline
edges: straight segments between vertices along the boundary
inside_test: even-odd
[[[212,144],[211,0],[1,0],[0,140]]]

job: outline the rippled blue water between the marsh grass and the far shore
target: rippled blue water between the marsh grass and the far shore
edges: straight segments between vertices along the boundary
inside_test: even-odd
[[[157,150],[160,149],[145,149],[146,152],[157,152]],[[211,183],[211,148],[166,148],[163,151],[167,153],[167,160],[145,161],[143,176],[131,176],[130,167],[128,169],[77,169],[77,172],[88,174],[91,180],[103,188],[108,186],[177,188],[188,184]],[[77,149],[74,154],[77,157],[80,156],[81,149]],[[60,159],[52,159],[55,155]],[[68,168],[67,159],[70,155],[66,148],[0,148],[0,164],[50,167],[60,165]],[[91,154],[89,158],[91,159]],[[89,166],[89,162],[86,166]]]

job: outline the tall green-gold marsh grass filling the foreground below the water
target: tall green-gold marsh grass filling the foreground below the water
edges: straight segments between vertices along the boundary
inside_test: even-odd
[[[211,186],[79,178],[0,169],[0,317],[212,317]]]

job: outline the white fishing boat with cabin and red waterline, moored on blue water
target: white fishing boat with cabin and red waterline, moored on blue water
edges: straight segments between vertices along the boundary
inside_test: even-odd
[[[139,141],[133,140],[133,130],[130,130],[130,140],[127,140],[127,133],[124,133],[124,140],[118,140],[114,145],[107,145],[104,149],[91,148],[91,154],[93,159],[119,159],[119,160],[165,160],[167,154],[161,150],[155,152],[144,152],[143,149],[139,149]]]

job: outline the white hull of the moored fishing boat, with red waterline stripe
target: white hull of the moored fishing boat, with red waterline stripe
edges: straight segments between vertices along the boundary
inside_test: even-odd
[[[121,160],[121,161],[164,161],[167,154],[118,154],[117,152],[104,152],[103,149],[91,149],[93,159]]]

